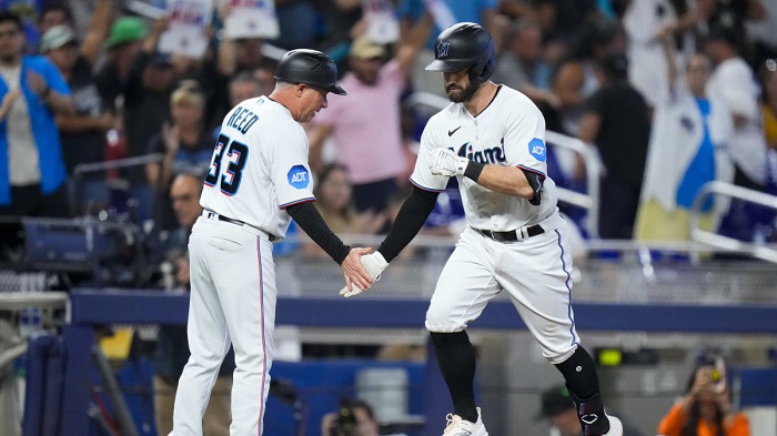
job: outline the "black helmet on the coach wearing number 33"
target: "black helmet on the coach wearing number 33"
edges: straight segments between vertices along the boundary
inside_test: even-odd
[[[284,54],[275,68],[275,79],[290,83],[304,83],[337,95],[345,95],[337,84],[337,65],[326,54],[307,49],[292,50]]]

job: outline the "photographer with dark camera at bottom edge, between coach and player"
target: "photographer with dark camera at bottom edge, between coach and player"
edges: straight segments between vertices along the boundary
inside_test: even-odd
[[[337,412],[321,419],[321,436],[381,436],[372,406],[362,399],[341,400]],[[385,436],[404,436],[400,434]]]

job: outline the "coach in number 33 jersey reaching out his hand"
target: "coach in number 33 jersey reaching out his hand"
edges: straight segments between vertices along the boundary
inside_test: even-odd
[[[275,90],[224,118],[200,197],[203,212],[189,241],[191,357],[179,382],[171,435],[202,435],[202,415],[230,344],[236,364],[230,435],[262,434],[278,293],[272,243],[284,237],[292,217],[341,264],[347,287],[372,283],[360,262],[369,250],[344,245],[311,203],[300,123],[326,108],[329,92],[345,94],[336,78],[325,54],[290,51],[275,70]]]

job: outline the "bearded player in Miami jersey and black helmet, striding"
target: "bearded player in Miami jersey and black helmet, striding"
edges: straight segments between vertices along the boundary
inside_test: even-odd
[[[556,186],[546,176],[545,121],[524,94],[488,80],[494,44],[481,26],[455,24],[435,47],[426,70],[443,72],[453,103],[426,124],[411,175],[413,193],[379,250],[362,263],[377,277],[418,232],[448,178],[457,178],[468,225],[426,313],[455,409],[444,435],[488,434],[475,406],[475,353],[465,328],[504,291],[564,376],[583,433],[622,436],[620,422],[605,414],[594,361],[575,332],[572,256]]]

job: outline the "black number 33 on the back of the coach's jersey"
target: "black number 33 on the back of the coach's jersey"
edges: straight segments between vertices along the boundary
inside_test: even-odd
[[[226,158],[224,158],[226,153]],[[205,184],[215,186],[216,183],[226,195],[234,195],[240,189],[240,180],[243,178],[243,169],[249,160],[249,148],[242,142],[232,141],[230,136],[221,133],[213,150],[211,166],[205,175]],[[221,164],[225,168],[222,173]]]

